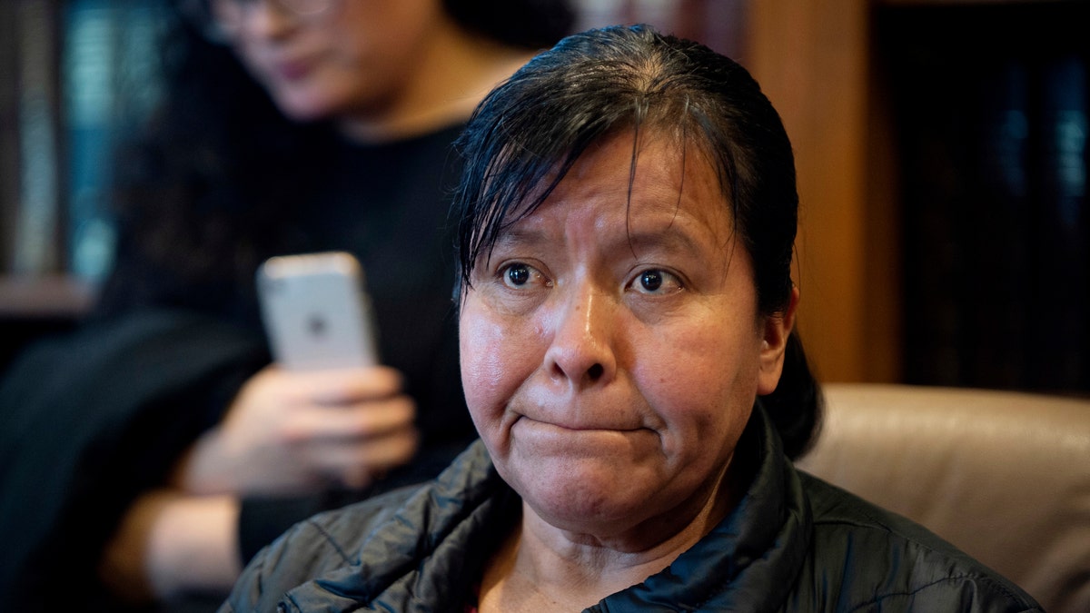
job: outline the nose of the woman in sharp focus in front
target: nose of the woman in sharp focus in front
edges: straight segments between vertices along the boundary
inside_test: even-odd
[[[546,368],[577,387],[608,382],[617,370],[614,347],[615,303],[593,287],[573,288],[554,318]]]

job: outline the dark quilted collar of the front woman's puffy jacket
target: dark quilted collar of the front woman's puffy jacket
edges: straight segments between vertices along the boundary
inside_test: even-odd
[[[738,505],[666,569],[588,611],[780,609],[812,531],[798,474],[760,402],[737,458],[753,466]],[[289,592],[289,609],[461,610],[487,557],[521,517],[481,441],[364,541],[358,564]],[[341,606],[341,608],[339,608]]]

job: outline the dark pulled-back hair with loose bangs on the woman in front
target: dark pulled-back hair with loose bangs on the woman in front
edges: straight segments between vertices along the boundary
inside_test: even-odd
[[[645,25],[569,36],[477,107],[458,142],[465,157],[455,200],[461,287],[504,229],[540,206],[589,145],[626,128],[666,131],[710,154],[752,257],[758,309],[784,312],[798,193],[779,116],[741,65]],[[763,402],[796,457],[813,433],[820,394],[795,333],[787,349],[780,384]]]

